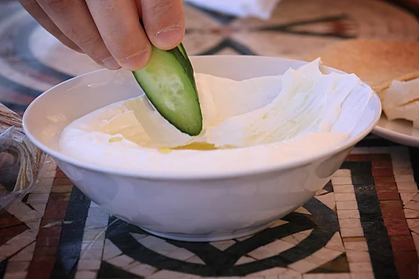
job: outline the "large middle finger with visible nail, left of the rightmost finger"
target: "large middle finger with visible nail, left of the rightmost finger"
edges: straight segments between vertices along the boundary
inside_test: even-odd
[[[149,62],[152,46],[133,0],[87,0],[101,36],[119,65],[138,70]]]

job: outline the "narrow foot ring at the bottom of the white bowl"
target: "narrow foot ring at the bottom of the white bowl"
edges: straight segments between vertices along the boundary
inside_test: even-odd
[[[151,229],[145,229],[141,227],[142,230],[148,232],[149,234],[154,234],[155,236],[162,237],[163,239],[172,239],[176,241],[188,241],[188,242],[212,242],[212,241],[225,241],[230,239],[239,239],[240,237],[249,236],[251,234],[256,234],[257,232],[263,231],[274,222],[270,222],[258,227],[251,227],[248,229],[239,229],[234,232],[225,232],[219,234],[170,234],[165,232],[155,232]]]

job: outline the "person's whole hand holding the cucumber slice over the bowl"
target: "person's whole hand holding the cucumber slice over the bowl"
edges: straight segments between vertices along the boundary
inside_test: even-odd
[[[19,1],[61,43],[111,70],[138,70],[149,62],[150,42],[170,50],[184,37],[182,0]]]

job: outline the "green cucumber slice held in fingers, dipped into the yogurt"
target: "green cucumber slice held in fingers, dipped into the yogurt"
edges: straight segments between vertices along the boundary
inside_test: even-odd
[[[133,75],[161,116],[182,133],[196,136],[203,130],[203,116],[195,79],[185,66],[177,47],[166,51],[152,46],[152,59]]]

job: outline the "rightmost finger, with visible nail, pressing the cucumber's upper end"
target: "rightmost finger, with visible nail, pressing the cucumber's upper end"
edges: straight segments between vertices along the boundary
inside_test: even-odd
[[[153,45],[170,50],[182,42],[185,15],[182,0],[141,0],[142,20]]]

